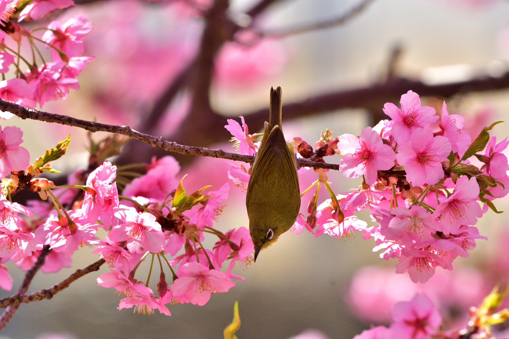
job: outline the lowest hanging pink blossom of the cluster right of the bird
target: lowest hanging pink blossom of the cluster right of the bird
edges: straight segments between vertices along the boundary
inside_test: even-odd
[[[408,272],[414,283],[426,283],[435,274],[435,267],[443,264],[443,260],[434,253],[409,250],[402,253],[400,262],[396,264],[396,273]]]

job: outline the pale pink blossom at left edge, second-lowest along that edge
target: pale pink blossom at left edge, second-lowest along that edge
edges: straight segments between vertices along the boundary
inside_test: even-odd
[[[0,225],[0,232],[0,258],[12,256],[12,261],[16,262],[24,256],[31,256],[36,250],[42,250],[41,240],[32,232],[12,230],[3,225]]]

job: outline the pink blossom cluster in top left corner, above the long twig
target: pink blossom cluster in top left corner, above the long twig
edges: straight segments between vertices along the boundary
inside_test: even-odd
[[[76,77],[94,59],[82,56],[81,39],[92,29],[90,20],[77,16],[64,24],[52,21],[47,27],[29,30],[20,23],[44,18],[55,10],[73,6],[74,2],[19,0],[13,6],[11,2],[0,0],[0,98],[29,108],[65,99],[69,89],[79,89]],[[38,32],[44,32],[42,37],[38,37]],[[20,46],[24,44],[30,46],[30,52],[24,51],[30,56],[22,55]],[[38,44],[51,50],[51,62],[44,59],[46,53],[39,50]],[[15,68],[15,77],[6,79],[11,66]],[[4,118],[11,116],[2,113]]]

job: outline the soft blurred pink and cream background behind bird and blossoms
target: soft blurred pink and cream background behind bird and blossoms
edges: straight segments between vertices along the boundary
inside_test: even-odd
[[[242,25],[252,20],[263,31],[277,32],[339,17],[360,2],[262,3],[271,4],[250,18],[245,13],[257,1],[232,0],[227,17]],[[217,39],[218,33],[210,40],[203,38],[210,20],[202,12],[216,5],[206,0],[98,0],[82,2],[49,18],[61,22],[78,14],[90,18],[94,28],[83,41],[85,54],[96,59],[80,75],[79,91],[42,109],[129,125],[171,141],[228,151],[232,150],[230,136],[223,128],[227,118],[242,114],[250,133],[260,130],[264,119],[260,110],[268,106],[270,86],[278,85],[284,93],[287,138],[299,136],[310,144],[326,128],[335,135],[358,135],[365,126],[383,118],[384,102],[398,103],[408,89],[419,93],[418,89],[406,88],[407,83],[426,89],[423,105],[440,107],[445,99],[449,113],[465,116],[473,137],[492,121],[509,119],[509,81],[504,82],[509,70],[507,1],[374,0],[347,23],[331,28],[275,39],[252,39],[249,32],[234,36],[247,39],[252,43],[249,47],[230,41],[223,44]],[[215,61],[215,67],[205,71],[193,61],[203,56],[204,46],[214,51],[209,61]],[[475,85],[479,81],[484,87]],[[462,85],[456,90],[446,89],[458,83]],[[365,91],[349,95],[359,88]],[[335,97],[327,99],[332,104],[320,108],[324,94]],[[318,108],[298,111],[290,105],[309,98],[315,98],[312,104]],[[290,105],[288,110],[286,105]],[[71,134],[68,154],[54,167],[70,173],[87,166],[89,142],[82,130],[16,117],[3,121],[2,126],[23,130],[23,146],[29,149],[32,161]],[[493,131],[502,138],[508,132],[507,123]],[[115,160],[149,161],[153,155],[163,153],[131,142]],[[340,158],[336,157],[327,161],[337,163]],[[176,158],[182,164],[179,177],[189,174],[186,186],[190,190],[207,184],[219,188],[229,181],[229,165],[223,160]],[[301,189],[315,179],[312,171],[307,172]],[[336,193],[360,184],[332,171],[329,181]],[[244,197],[245,193],[232,184],[216,228],[225,231],[248,225]],[[324,193],[321,201],[326,198]],[[500,199],[497,207],[507,210],[509,201]],[[361,217],[370,219],[367,213]],[[343,241],[288,232],[262,252],[256,264],[246,270],[236,268],[234,273],[244,276],[245,281],[238,281],[228,293],[213,295],[205,306],[171,306],[171,317],[118,311],[120,298],[95,282],[107,271],[102,267],[52,300],[21,305],[0,337],[35,338],[53,332],[80,339],[220,338],[238,300],[240,339],[289,338],[307,329],[319,331],[307,332],[309,338],[352,338],[372,324],[387,324],[391,305],[409,300],[416,291],[426,291],[440,307],[447,326],[454,328],[465,324],[469,305],[477,305],[495,283],[509,277],[506,213],[489,212],[477,227],[490,240],[478,241],[470,258],[457,259],[453,272],[437,268],[434,278],[423,285],[413,284],[406,274],[395,274],[396,262],[380,259],[372,252],[374,241],[364,240],[360,234]],[[40,272],[30,291],[52,286],[75,269],[96,261],[91,251],[80,249],[71,268],[53,274]],[[23,272],[12,264],[9,269],[16,289]],[[0,291],[0,297],[10,294]]]

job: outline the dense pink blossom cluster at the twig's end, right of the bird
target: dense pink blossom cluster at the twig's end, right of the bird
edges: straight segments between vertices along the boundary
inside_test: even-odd
[[[413,282],[424,283],[437,266],[452,270],[458,256],[469,256],[476,239],[487,239],[473,225],[490,208],[498,212],[492,200],[509,190],[503,154],[509,141],[490,138],[488,131],[496,123],[472,141],[463,130],[464,119],[449,115],[445,102],[439,124],[434,124],[440,118],[435,109],[421,106],[416,93],[408,91],[400,103],[401,108],[385,104],[383,110],[391,120],[366,127],[360,136],[333,138],[331,131],[322,132],[315,151],[294,138],[299,157],[324,162],[324,157],[339,154],[343,175],[362,177],[363,182],[359,189],[336,195],[327,182],[328,170],[315,169],[318,180],[304,191],[317,186],[307,204],[308,216],[300,214],[293,229],[336,238],[361,231],[364,238],[375,239],[374,251],[381,250],[381,258],[399,259],[397,273],[408,272]],[[256,138],[242,123],[243,127],[229,120],[227,128],[239,150],[251,154]],[[249,181],[249,169],[233,164],[229,176],[242,185]],[[318,204],[321,184],[331,199]],[[370,228],[355,217],[363,209],[371,211],[377,226]]]

